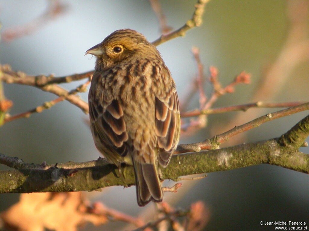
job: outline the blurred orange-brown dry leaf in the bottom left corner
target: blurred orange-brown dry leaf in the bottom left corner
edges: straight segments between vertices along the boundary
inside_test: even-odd
[[[20,200],[0,214],[11,230],[75,231],[86,222],[105,224],[108,218],[94,213],[81,192],[21,194]]]

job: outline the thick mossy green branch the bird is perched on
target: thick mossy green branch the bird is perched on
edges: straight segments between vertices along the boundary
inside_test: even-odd
[[[211,151],[174,155],[167,168],[161,169],[161,178],[177,180],[179,176],[231,170],[256,164],[272,164],[309,173],[309,155],[298,151],[308,135],[309,115],[280,138]],[[285,144],[293,145],[283,145],[282,140],[285,140]],[[8,158],[7,165],[12,165],[10,161],[11,159]],[[81,164],[84,165],[84,163]],[[70,162],[69,165],[78,166],[79,164]],[[83,168],[54,166],[46,170],[0,171],[0,179],[2,179],[0,193],[91,191],[107,186],[130,186],[135,183],[132,166],[122,166],[120,173],[115,165],[104,163],[101,158],[92,161],[91,165],[93,166]]]

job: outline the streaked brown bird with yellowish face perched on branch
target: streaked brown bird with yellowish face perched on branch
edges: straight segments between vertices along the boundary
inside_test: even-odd
[[[88,94],[96,148],[119,169],[133,165],[139,206],[161,202],[158,168],[180,138],[176,85],[159,51],[131,29],[116,30],[86,54],[96,56]]]

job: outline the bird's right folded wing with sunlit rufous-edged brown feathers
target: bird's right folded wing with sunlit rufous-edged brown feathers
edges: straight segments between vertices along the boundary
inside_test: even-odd
[[[168,96],[169,95],[169,96]],[[166,167],[180,136],[179,101],[175,87],[164,99],[155,97],[155,128],[158,136],[159,163]]]

